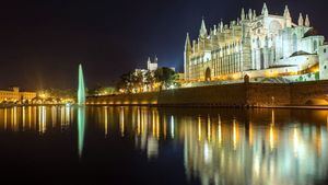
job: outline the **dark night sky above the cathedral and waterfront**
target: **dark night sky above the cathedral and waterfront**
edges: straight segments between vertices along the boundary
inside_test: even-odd
[[[2,0],[0,3],[0,88],[75,88],[78,63],[87,86],[109,83],[157,55],[161,66],[183,69],[186,32],[239,16],[261,0]],[[297,21],[308,13],[328,35],[326,0],[267,0],[269,12],[288,3]]]

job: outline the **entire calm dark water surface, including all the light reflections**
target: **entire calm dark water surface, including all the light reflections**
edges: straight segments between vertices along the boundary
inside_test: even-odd
[[[5,184],[328,182],[328,111],[0,109]]]

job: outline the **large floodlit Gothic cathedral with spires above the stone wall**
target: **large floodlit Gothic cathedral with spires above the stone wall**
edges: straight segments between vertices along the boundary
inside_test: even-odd
[[[229,25],[222,21],[210,31],[202,20],[197,41],[185,45],[187,80],[238,79],[291,76],[327,70],[328,46],[311,26],[309,18],[300,13],[293,23],[285,7],[283,15],[269,14],[265,4],[259,15],[254,10]],[[327,79],[325,74],[321,79]]]

